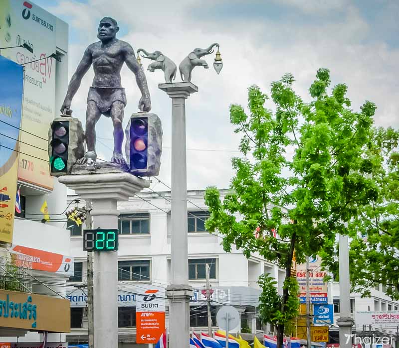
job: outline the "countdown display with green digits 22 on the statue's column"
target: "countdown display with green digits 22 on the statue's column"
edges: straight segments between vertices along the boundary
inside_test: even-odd
[[[84,230],[83,250],[114,251],[118,250],[118,230]]]

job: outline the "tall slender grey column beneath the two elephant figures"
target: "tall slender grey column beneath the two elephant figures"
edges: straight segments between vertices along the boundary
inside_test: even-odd
[[[158,86],[172,99],[172,241],[171,285],[169,299],[170,347],[189,347],[190,298],[187,234],[187,159],[186,99],[198,92],[191,82],[165,83]]]

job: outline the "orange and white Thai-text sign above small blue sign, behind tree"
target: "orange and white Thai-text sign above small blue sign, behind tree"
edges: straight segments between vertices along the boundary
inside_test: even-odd
[[[309,288],[312,303],[327,303],[327,283],[324,282],[326,271],[321,269],[321,258],[310,257],[309,260]],[[299,299],[301,303],[306,303],[306,263],[296,265],[296,279],[299,285]]]

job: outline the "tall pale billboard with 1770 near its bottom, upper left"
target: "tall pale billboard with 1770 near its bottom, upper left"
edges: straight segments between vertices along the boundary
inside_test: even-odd
[[[47,131],[55,115],[55,60],[45,57],[55,53],[55,21],[30,1],[0,0],[0,46],[26,44],[33,51],[23,47],[1,50],[1,55],[25,67],[21,122],[25,131],[20,134],[23,154],[18,179],[49,190],[53,178],[48,168]]]

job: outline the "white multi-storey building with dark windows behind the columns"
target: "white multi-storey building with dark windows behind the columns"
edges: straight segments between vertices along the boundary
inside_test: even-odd
[[[260,294],[256,281],[264,272],[272,274],[279,280],[281,291],[285,273],[260,256],[254,255],[247,259],[236,249],[230,253],[224,252],[220,245],[221,237],[204,230],[204,220],[207,219],[208,212],[203,194],[204,191],[188,192],[189,282],[195,289],[191,303],[191,326],[196,330],[207,329],[206,304],[201,290],[205,289],[205,263],[208,263],[210,284],[214,290],[211,309],[213,326],[216,325],[216,308],[222,304],[231,304],[241,312],[241,331],[245,332],[246,329],[254,333],[259,330],[263,333],[264,328],[256,321],[255,315]],[[166,287],[170,283],[170,192],[142,192],[138,196],[118,204],[121,213],[118,219],[119,290],[133,293],[134,289],[140,289],[143,283],[153,283],[160,287]],[[68,203],[76,198],[78,197],[68,196]],[[84,202],[81,200],[79,205],[83,206]],[[75,269],[83,270],[82,276],[73,279],[74,284],[79,286],[87,281],[82,230],[73,222],[68,223],[68,227],[71,230],[71,252],[75,260]],[[127,347],[131,347],[136,334],[135,302],[131,297],[123,295],[126,293],[120,294],[119,341],[126,342]],[[87,342],[84,297],[85,294],[81,290],[71,294],[72,328],[71,333],[67,335],[68,342]],[[234,331],[238,330],[239,327]]]

